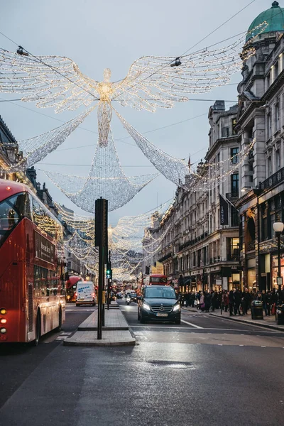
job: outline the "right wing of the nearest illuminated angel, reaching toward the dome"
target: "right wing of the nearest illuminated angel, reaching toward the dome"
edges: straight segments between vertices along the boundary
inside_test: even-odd
[[[253,28],[251,41],[266,26],[262,23]],[[157,107],[171,108],[175,102],[188,101],[188,94],[208,92],[212,87],[227,84],[243,61],[255,53],[251,41],[244,46],[245,37],[224,48],[205,48],[180,58],[144,56],[133,62],[124,80],[114,83],[112,99],[123,106],[155,111]]]

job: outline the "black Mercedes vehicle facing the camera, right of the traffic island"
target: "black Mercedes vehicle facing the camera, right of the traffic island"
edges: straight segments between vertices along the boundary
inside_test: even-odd
[[[138,297],[138,320],[163,320],[180,324],[180,302],[168,285],[146,285]]]

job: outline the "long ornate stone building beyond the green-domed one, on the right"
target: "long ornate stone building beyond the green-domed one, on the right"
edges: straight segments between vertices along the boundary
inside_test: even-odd
[[[209,109],[209,148],[205,163],[200,162],[197,168],[204,180],[201,178],[197,189],[191,190],[192,178],[188,175],[188,189],[187,185],[178,187],[175,202],[159,226],[151,230],[158,238],[169,227],[155,261],[163,263],[169,282],[182,284],[183,290],[219,290],[240,285],[239,219],[233,204],[239,195],[237,110],[235,105],[226,111],[224,101],[215,102]],[[229,179],[221,179],[219,185],[209,189],[210,164],[222,168],[225,175],[232,165],[235,171]],[[226,209],[223,222],[220,195]]]

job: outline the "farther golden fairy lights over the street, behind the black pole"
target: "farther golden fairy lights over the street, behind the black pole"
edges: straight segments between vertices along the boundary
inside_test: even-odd
[[[155,238],[150,231],[155,220],[162,216],[168,203],[162,204],[155,212],[144,213],[135,217],[122,217],[116,226],[109,226],[108,239],[111,250],[111,264],[114,269],[131,275],[143,261],[151,258],[160,250],[161,243],[170,227]],[[94,219],[67,211],[60,204],[55,204],[62,222],[72,229],[69,239],[65,239],[65,248],[73,253],[88,268],[97,272],[99,252],[94,246]]]

